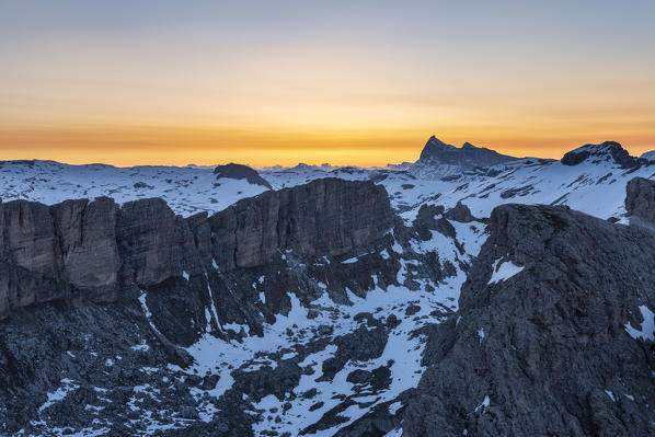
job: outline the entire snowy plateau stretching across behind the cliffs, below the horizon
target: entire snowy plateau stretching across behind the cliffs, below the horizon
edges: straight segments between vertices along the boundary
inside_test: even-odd
[[[619,161],[614,159],[617,153]],[[584,159],[585,154],[589,158]],[[393,207],[409,219],[425,203],[449,208],[458,202],[469,206],[476,217],[489,217],[494,207],[506,203],[567,205],[600,218],[620,217],[624,212],[628,181],[635,176],[655,177],[655,166],[647,160],[640,159],[642,163],[625,166],[628,153],[614,142],[583,146],[566,157],[577,157],[581,162],[567,165],[556,160],[526,158],[473,170],[439,162],[409,169],[299,164],[263,169],[258,173],[274,189],[321,177],[370,179],[387,188]],[[176,214],[189,216],[222,210],[266,189],[245,179],[217,180],[214,168],[115,168],[53,161],[0,163],[0,198],[4,202],[23,198],[49,205],[97,196],[114,197],[117,203],[162,197]]]

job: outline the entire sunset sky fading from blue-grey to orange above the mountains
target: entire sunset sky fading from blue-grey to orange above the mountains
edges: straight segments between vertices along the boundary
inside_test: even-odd
[[[0,0],[0,160],[655,149],[655,1]]]

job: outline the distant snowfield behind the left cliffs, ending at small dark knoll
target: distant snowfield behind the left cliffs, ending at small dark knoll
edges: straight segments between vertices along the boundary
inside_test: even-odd
[[[4,202],[26,199],[51,205],[71,198],[108,196],[122,204],[161,197],[176,214],[191,216],[225,209],[266,189],[246,180],[217,179],[214,168],[0,162],[0,198]]]

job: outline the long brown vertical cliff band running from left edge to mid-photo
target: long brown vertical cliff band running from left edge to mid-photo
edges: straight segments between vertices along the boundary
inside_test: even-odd
[[[393,226],[383,187],[325,179],[243,199],[212,217],[161,199],[0,204],[0,318],[71,294],[113,301],[126,287],[268,263],[280,251],[340,255]]]

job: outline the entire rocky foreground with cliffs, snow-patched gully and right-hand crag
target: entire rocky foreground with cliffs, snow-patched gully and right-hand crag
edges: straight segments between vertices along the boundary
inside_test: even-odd
[[[655,184],[631,226],[317,180],[212,216],[0,206],[0,434],[655,434]],[[461,289],[461,294],[460,294]]]

